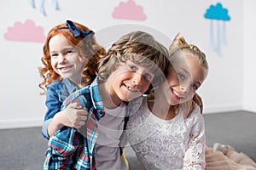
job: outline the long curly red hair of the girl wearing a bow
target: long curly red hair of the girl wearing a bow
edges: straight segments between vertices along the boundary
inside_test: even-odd
[[[90,29],[86,26],[83,26],[76,22],[74,22],[74,24],[80,31],[90,31]],[[89,60],[87,62],[87,65],[84,66],[84,70],[82,72],[82,82],[84,84],[90,83],[92,81],[92,78],[96,77],[95,71],[97,70],[98,60],[101,58],[102,55],[106,54],[106,50],[96,42],[95,37],[92,37],[90,42],[86,42],[83,41],[83,36],[73,37],[73,33],[69,29],[58,29],[60,27],[67,26],[65,25],[65,23],[54,26],[49,31],[46,41],[44,43],[44,56],[41,58],[44,66],[38,68],[40,76],[44,78],[44,81],[39,83],[39,88],[42,88],[44,90],[44,93],[42,94],[45,94],[46,88],[56,79],[61,80],[61,76],[57,74],[51,66],[51,60],[49,55],[49,40],[51,37],[61,34],[73,47],[79,48],[80,56],[86,57],[86,59],[83,59],[84,62],[87,62]]]

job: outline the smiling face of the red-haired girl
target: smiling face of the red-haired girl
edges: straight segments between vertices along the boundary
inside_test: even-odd
[[[74,48],[61,34],[49,40],[49,54],[53,70],[62,78],[73,82],[81,82],[84,63],[80,59],[79,50]]]

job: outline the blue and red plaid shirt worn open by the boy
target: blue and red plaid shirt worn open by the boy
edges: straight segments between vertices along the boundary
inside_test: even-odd
[[[67,97],[61,110],[73,102],[79,102],[83,109],[89,112],[82,132],[84,136],[72,127],[62,127],[58,130],[49,139],[44,169],[96,169],[97,123],[105,114],[97,79],[90,86],[81,88]]]

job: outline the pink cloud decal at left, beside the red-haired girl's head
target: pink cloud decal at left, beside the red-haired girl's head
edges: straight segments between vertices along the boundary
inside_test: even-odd
[[[8,28],[4,38],[9,41],[44,42],[44,28],[35,26],[32,20],[26,20],[24,24],[16,22],[14,26]]]

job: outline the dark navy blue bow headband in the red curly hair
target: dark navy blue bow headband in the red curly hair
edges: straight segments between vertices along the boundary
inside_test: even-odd
[[[86,37],[86,41],[90,42],[91,38],[94,36],[94,31],[80,31],[77,26],[71,20],[66,21],[67,27],[60,27],[57,29],[69,29],[73,33],[73,37]]]

